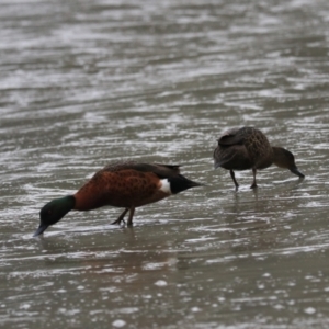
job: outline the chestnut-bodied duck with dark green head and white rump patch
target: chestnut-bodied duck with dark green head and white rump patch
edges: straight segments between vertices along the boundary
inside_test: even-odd
[[[179,166],[136,162],[110,164],[98,171],[76,194],[47,203],[41,209],[41,224],[34,237],[72,209],[86,212],[106,205],[124,208],[112,224],[124,222],[129,212],[127,225],[131,226],[136,207],[200,185],[181,175]]]

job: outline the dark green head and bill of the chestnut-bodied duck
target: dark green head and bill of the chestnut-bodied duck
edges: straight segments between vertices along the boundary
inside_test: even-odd
[[[48,226],[59,222],[69,211],[75,207],[75,196],[68,195],[55,198],[44,205],[39,212],[39,227],[33,235],[34,237],[43,234]]]

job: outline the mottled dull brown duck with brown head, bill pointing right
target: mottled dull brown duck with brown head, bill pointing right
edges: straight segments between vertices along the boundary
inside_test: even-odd
[[[256,173],[272,163],[288,169],[299,178],[305,175],[297,169],[294,155],[282,147],[271,146],[266,136],[253,127],[232,128],[219,139],[214,150],[214,166],[229,170],[230,177],[238,189],[234,170],[252,169],[253,182],[251,189],[257,188]]]

